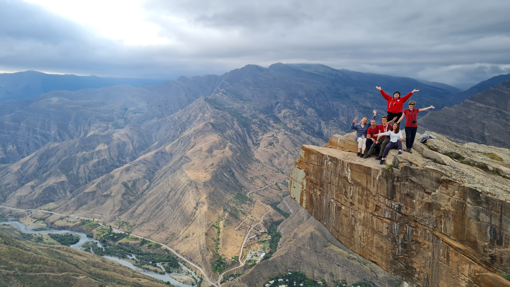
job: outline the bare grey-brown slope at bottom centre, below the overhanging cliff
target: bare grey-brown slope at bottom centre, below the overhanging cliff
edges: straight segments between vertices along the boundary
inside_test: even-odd
[[[328,282],[365,281],[377,287],[397,285],[397,278],[343,246],[290,196],[284,200],[292,214],[279,226],[282,239],[277,252],[226,286],[260,286],[265,278],[288,270],[305,272],[310,278],[324,278]]]

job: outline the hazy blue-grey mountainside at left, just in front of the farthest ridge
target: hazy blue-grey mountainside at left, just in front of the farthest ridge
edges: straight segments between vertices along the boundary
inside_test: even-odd
[[[168,81],[143,88],[113,86],[76,92],[52,91],[2,104],[0,164],[13,163],[48,142],[87,137],[168,116],[209,90]]]

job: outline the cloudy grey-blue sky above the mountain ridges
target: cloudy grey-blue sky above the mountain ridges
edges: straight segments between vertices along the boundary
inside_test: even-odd
[[[247,64],[467,89],[510,74],[510,1],[0,0],[0,73],[175,79]]]

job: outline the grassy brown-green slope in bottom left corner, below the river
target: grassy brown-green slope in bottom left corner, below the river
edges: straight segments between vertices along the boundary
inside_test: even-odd
[[[0,257],[0,286],[167,286],[89,252],[24,241],[8,226],[0,226]]]

